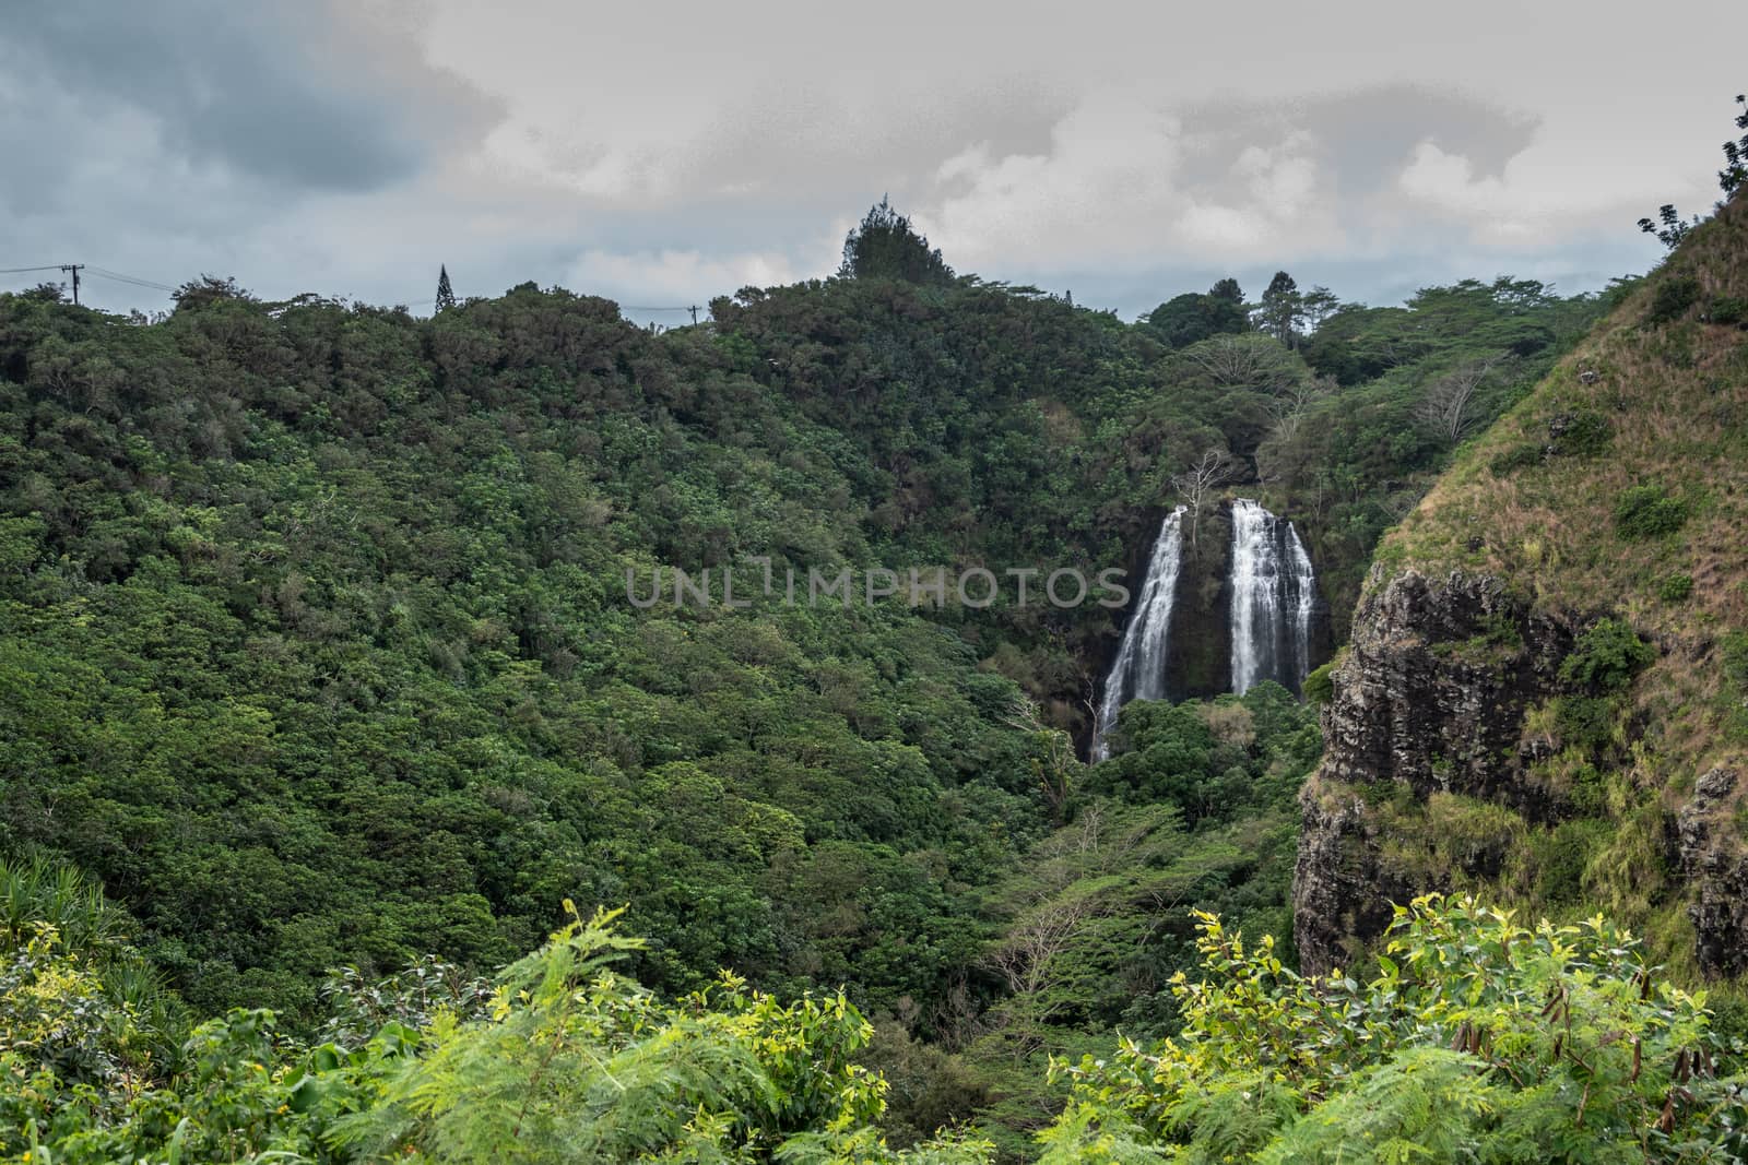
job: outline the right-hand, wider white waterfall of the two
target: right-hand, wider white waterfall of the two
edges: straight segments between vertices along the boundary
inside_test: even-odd
[[[1248,498],[1232,503],[1232,692],[1294,692],[1311,671],[1316,575],[1299,531]]]

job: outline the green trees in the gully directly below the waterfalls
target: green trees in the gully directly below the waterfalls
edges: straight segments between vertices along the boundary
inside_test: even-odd
[[[942,1027],[951,1051],[937,1062],[876,1046],[895,1132],[974,1118],[1009,1160],[1030,1156],[1061,1106],[1052,1057],[1176,1031],[1169,983],[1197,959],[1190,905],[1290,952],[1294,796],[1321,755],[1311,709],[1273,683],[1206,704],[1133,702],[1113,744],[1068,798],[1066,824],[988,898],[1000,934],[977,969],[995,1001]]]

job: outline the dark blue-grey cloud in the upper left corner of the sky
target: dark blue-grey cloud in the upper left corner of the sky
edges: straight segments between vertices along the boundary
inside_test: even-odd
[[[339,10],[58,0],[19,7],[7,31],[7,63],[38,98],[89,121],[142,114],[166,161],[292,189],[407,178],[498,112],[404,37]]]

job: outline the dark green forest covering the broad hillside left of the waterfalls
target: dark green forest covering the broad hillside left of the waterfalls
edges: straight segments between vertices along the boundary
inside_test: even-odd
[[[787,608],[752,555],[778,590],[1115,566],[1222,447],[1318,498],[1339,610],[1383,489],[1439,465],[1419,369],[1477,318],[1545,348],[1587,311],[1428,292],[1367,325],[1447,320],[1388,391],[1301,398],[1278,341],[1168,349],[975,279],[748,290],[661,337],[531,286],[428,321],[225,279],[145,327],[0,297],[7,847],[96,875],[206,1010],[311,1015],[336,962],[489,968],[566,896],[629,901],[666,990],[939,997],[993,936],[979,887],[1059,816],[1049,728],[1084,730],[1120,613]],[[718,603],[635,608],[662,566]]]

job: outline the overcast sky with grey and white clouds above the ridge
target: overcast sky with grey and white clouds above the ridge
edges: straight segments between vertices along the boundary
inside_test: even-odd
[[[1592,290],[1655,262],[1636,218],[1717,197],[1745,31],[1718,0],[16,5],[0,267],[666,307],[830,274],[890,194],[960,272],[1126,320],[1278,267]]]

